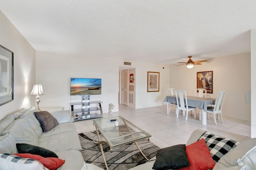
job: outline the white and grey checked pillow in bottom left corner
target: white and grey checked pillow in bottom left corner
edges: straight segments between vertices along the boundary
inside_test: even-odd
[[[22,158],[14,154],[0,153],[1,170],[48,170],[38,160]]]

